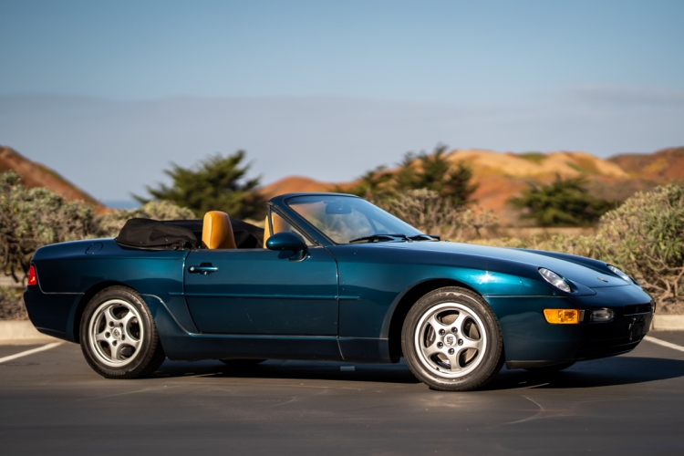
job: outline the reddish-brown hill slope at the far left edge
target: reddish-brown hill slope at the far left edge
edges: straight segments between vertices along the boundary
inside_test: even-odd
[[[26,187],[46,187],[67,200],[82,200],[97,208],[103,208],[95,198],[67,181],[57,171],[36,161],[28,160],[16,150],[0,146],[0,172],[7,170],[16,171]]]

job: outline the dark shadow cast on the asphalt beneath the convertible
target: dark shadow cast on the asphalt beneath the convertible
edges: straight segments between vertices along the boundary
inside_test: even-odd
[[[354,370],[350,370],[350,368]],[[399,364],[356,364],[268,360],[249,368],[230,368],[220,361],[193,363],[167,360],[152,378],[285,378],[299,380],[420,383],[402,359]],[[502,371],[482,390],[578,389],[645,383],[684,377],[684,361],[667,358],[616,357],[579,362],[564,371],[540,374],[524,369]]]

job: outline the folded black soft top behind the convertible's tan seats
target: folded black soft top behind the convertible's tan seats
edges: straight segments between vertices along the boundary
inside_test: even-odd
[[[264,229],[231,219],[235,244],[239,249],[259,248]],[[152,220],[135,218],[123,225],[114,241],[127,247],[154,250],[202,248],[202,220]]]

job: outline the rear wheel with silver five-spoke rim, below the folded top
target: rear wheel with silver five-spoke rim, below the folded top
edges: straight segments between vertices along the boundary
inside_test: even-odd
[[[90,367],[104,378],[146,377],[166,359],[150,309],[125,286],[110,286],[90,299],[80,343]]]

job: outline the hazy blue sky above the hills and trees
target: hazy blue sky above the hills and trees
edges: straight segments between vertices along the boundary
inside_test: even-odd
[[[0,20],[0,144],[104,200],[216,151],[343,181],[438,142],[684,144],[681,1],[0,0]]]

